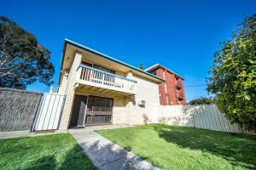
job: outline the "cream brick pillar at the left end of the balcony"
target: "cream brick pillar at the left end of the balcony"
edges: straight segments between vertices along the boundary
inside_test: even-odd
[[[77,82],[77,69],[79,68],[79,65],[81,63],[82,54],[77,52],[75,54],[75,57],[73,59],[73,64],[71,66],[71,69],[68,74],[67,78],[67,96],[64,104],[64,108],[61,115],[61,122],[59,129],[67,129],[69,117],[72,113],[72,107],[73,107],[73,99],[74,99],[74,85]]]

